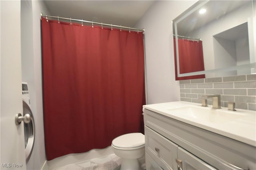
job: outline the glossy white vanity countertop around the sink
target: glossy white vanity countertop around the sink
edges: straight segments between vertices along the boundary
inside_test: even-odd
[[[201,114],[199,112],[197,116],[189,113],[180,113],[182,110],[180,108],[186,107],[198,108],[200,111],[205,109],[211,116],[206,117],[202,113],[202,117],[198,117],[198,114]],[[143,108],[256,147],[256,111],[244,109],[230,111],[227,107],[212,109],[211,105],[202,107],[201,104],[182,101],[149,104],[144,105]],[[184,111],[186,112],[187,110],[185,109]],[[225,117],[221,114],[225,115]],[[218,120],[212,119],[216,118],[214,115],[218,115]],[[228,118],[226,115],[228,115]]]

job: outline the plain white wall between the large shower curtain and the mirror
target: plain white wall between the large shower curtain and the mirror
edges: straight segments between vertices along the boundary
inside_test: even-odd
[[[180,100],[172,20],[196,1],[156,1],[134,27],[144,28],[148,104]]]

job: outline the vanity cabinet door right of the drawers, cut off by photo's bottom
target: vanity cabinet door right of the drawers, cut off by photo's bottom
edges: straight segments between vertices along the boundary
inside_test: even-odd
[[[178,160],[181,161],[182,170],[216,170],[181,147],[178,147]]]

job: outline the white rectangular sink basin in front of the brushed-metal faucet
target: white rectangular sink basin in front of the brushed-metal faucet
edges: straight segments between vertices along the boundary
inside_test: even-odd
[[[212,123],[225,123],[237,121],[244,117],[245,113],[240,111],[230,111],[224,109],[212,109],[211,107],[202,106],[184,106],[179,108],[168,109],[168,112],[191,120],[206,121]]]

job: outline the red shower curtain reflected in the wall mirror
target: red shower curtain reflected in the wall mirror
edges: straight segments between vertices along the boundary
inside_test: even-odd
[[[204,55],[202,41],[190,41],[178,39],[180,74],[204,70]],[[205,78],[205,74],[196,76],[178,77],[176,60],[176,41],[174,37],[174,62],[176,80],[187,80],[195,78]]]

